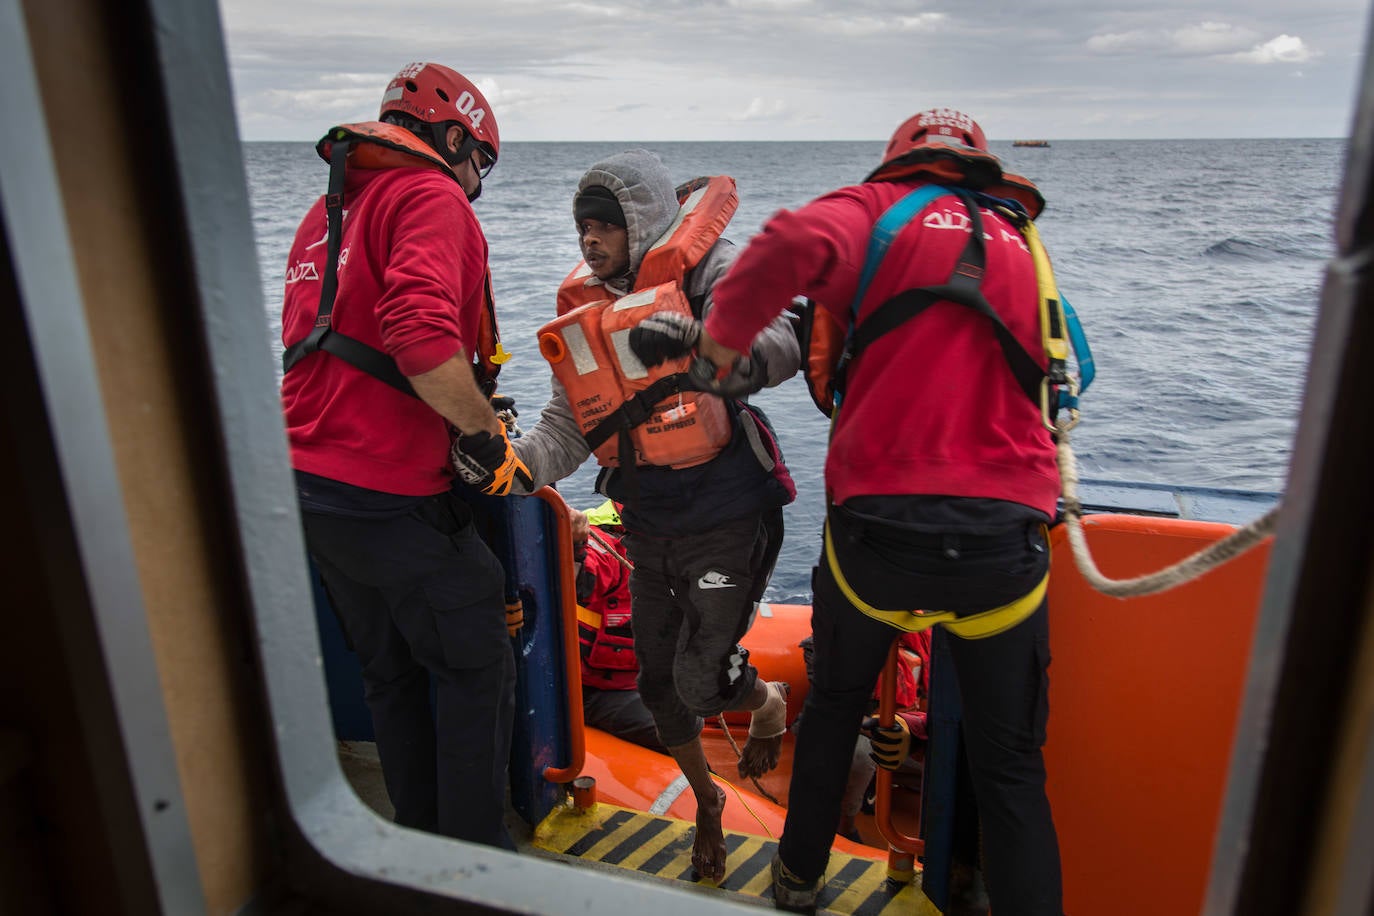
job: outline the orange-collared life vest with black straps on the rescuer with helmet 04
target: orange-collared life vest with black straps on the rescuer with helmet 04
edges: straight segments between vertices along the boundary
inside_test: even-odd
[[[342,166],[334,163],[334,144],[346,143],[348,155]],[[361,121],[359,124],[341,124],[330,128],[315,146],[326,162],[331,163],[330,194],[326,198],[327,209],[342,211],[344,174],[335,174],[335,169],[434,169],[458,181],[453,172],[442,157],[440,157],[427,143],[407,130],[405,128],[385,121]],[[330,220],[330,233],[341,231],[335,227],[339,220]],[[327,265],[330,271],[334,264]],[[326,284],[330,287],[330,284]],[[333,297],[331,297],[333,299]],[[315,350],[334,353],[339,358],[357,368],[381,378],[387,385],[397,387],[407,394],[415,394],[409,382],[396,368],[396,361],[381,350],[375,350],[359,341],[345,338],[328,327],[328,314],[334,302],[322,302],[320,313],[316,316],[316,327],[304,341],[297,341],[286,349],[282,357],[283,371],[289,371],[301,357]],[[323,323],[322,323],[323,321]],[[335,338],[331,341],[330,338]],[[342,341],[341,341],[342,338]],[[342,343],[344,346],[337,346]],[[496,299],[492,295],[492,272],[486,271],[482,277],[482,313],[477,328],[477,353],[473,354],[473,375],[478,385],[488,393],[496,389],[496,376],[503,363],[510,360],[510,353],[502,346],[500,331],[496,327]]]

